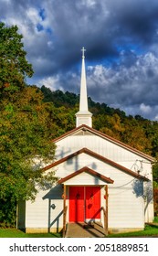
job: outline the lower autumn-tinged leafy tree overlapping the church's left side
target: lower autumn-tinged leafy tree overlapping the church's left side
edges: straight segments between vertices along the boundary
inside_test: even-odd
[[[18,200],[34,199],[37,186],[56,181],[54,173],[44,176],[41,171],[55,153],[42,93],[26,87],[17,94],[18,101],[0,112],[0,222],[9,224],[15,223]]]

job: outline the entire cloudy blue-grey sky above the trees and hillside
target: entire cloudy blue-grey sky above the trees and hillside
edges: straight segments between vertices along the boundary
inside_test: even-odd
[[[82,47],[88,94],[158,121],[157,0],[0,0],[35,71],[29,84],[79,93]]]

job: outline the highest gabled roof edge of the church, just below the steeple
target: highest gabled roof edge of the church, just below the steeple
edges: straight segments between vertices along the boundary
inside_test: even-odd
[[[109,142],[111,142],[113,144],[117,144],[117,145],[121,146],[122,148],[125,148],[128,151],[130,151],[130,152],[132,152],[132,153],[134,153],[136,155],[140,155],[143,158],[145,158],[145,159],[147,159],[147,160],[149,160],[151,162],[154,162],[154,158],[151,155],[146,155],[146,154],[142,153],[141,151],[139,151],[138,149],[135,149],[135,148],[133,148],[132,146],[130,146],[128,144],[124,144],[121,141],[119,141],[117,139],[114,139],[114,138],[112,138],[111,136],[109,136],[109,135],[107,135],[105,133],[101,133],[100,131],[97,131],[97,130],[93,129],[93,128],[91,128],[90,126],[88,126],[86,124],[82,124],[79,127],[69,131],[68,133],[62,134],[58,138],[54,139],[52,142],[56,144],[56,143],[58,143],[58,141],[66,138],[66,137],[68,137],[70,135],[74,135],[75,133],[78,133],[79,131],[85,131],[85,132],[88,131],[90,133],[98,135],[101,138],[106,139],[106,140],[108,140]]]

